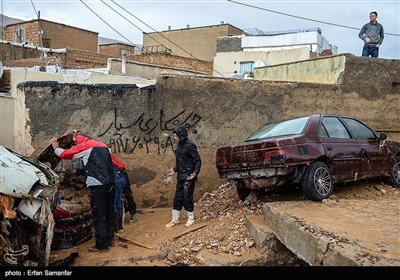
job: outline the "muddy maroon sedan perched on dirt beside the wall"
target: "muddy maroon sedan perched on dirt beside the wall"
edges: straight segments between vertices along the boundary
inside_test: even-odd
[[[261,127],[242,144],[216,153],[220,178],[236,186],[241,200],[251,190],[301,186],[321,201],[333,184],[387,178],[400,187],[400,143],[387,140],[361,121],[337,115],[309,115]]]

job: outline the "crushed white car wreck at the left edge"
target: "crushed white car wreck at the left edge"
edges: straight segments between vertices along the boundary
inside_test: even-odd
[[[59,183],[51,166],[0,146],[1,265],[49,265]]]

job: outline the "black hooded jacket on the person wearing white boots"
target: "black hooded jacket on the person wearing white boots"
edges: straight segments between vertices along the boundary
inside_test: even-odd
[[[199,175],[201,159],[196,144],[188,138],[187,131],[183,126],[177,126],[173,133],[176,133],[180,139],[175,150],[174,171],[177,172],[177,179],[179,181],[186,180],[192,173]],[[197,176],[194,180],[197,180]]]

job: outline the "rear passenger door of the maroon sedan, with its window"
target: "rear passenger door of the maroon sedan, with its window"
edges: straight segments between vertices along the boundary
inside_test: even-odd
[[[362,164],[359,143],[351,138],[339,118],[323,117],[319,137],[325,154],[332,161],[335,182],[357,179]]]

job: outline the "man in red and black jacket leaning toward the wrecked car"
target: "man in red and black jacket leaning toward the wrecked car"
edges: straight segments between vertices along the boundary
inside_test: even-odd
[[[56,138],[50,140],[54,153],[61,159],[82,159],[86,185],[90,188],[96,244],[89,252],[108,252],[114,246],[114,185],[115,177],[111,152],[107,144],[74,130],[69,149],[59,147]]]

